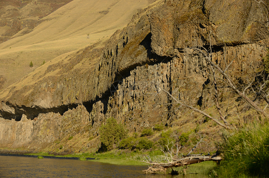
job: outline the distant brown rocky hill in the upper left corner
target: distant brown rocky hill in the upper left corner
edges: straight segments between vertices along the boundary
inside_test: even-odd
[[[72,0],[6,0],[0,2],[0,43],[27,34],[38,20]]]

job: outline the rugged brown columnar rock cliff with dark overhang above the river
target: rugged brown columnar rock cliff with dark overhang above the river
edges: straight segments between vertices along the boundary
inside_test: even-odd
[[[266,54],[263,13],[256,2],[243,0],[159,1],[140,10],[105,47],[97,43],[47,64],[44,73],[33,72],[2,91],[0,143],[33,148],[33,141],[53,145],[71,135],[97,136],[109,117],[130,131],[155,123],[183,125],[174,121],[187,110],[167,105],[172,101],[159,87],[193,106],[214,105],[212,80],[201,72],[206,62],[189,47],[211,44],[212,59],[221,66],[234,59],[236,80],[258,67]],[[79,146],[94,143],[84,140]]]

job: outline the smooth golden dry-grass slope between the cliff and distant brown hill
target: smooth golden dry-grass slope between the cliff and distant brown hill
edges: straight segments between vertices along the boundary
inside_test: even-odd
[[[108,39],[126,26],[138,9],[152,2],[73,0],[58,8],[38,20],[39,25],[31,32],[0,44],[0,91],[33,72],[43,61],[51,65],[72,52]],[[29,66],[31,61],[33,67]]]

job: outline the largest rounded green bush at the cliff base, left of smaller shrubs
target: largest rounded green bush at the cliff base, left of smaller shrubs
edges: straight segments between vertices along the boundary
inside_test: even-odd
[[[107,119],[106,125],[99,129],[101,147],[99,151],[109,151],[113,149],[113,144],[127,137],[126,130],[121,124],[117,124],[114,118]]]

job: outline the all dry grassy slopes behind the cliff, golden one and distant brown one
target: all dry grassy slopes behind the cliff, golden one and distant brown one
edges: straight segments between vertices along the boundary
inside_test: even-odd
[[[0,44],[0,70],[3,72],[1,75],[7,78],[0,91],[33,72],[43,60],[50,65],[55,64],[56,57],[63,55],[65,58],[70,52],[75,53],[96,42],[104,42],[116,30],[125,27],[137,9],[150,4],[147,1],[129,3],[125,0],[48,0],[37,4],[34,2],[37,1],[0,2],[4,6],[0,9],[0,16],[3,15],[0,17],[0,43],[3,42],[1,32],[3,35],[10,33],[8,37],[3,37],[3,40],[12,37]],[[63,7],[59,8],[61,6]],[[122,11],[122,8],[125,10]],[[104,10],[108,12],[101,13]],[[20,12],[22,22],[17,17],[17,13]],[[42,19],[38,21],[39,18]],[[2,27],[5,24],[13,26]],[[18,32],[23,27],[24,31]],[[8,32],[5,32],[6,29]],[[85,38],[87,33],[91,34],[90,39]],[[29,58],[38,65],[26,69]]]

